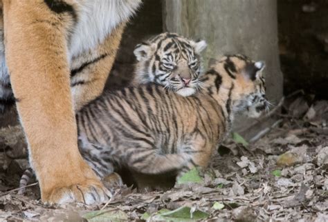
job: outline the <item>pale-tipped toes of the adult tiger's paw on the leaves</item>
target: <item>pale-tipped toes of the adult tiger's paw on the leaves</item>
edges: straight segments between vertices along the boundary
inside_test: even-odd
[[[48,204],[81,202],[88,205],[104,203],[111,198],[111,192],[99,181],[88,180],[68,187],[56,187],[42,195],[42,201]]]

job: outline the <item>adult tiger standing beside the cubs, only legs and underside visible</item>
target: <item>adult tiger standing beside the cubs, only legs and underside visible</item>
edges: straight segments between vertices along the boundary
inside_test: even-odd
[[[75,111],[101,94],[140,3],[0,0],[0,114],[16,102],[46,203],[108,199],[78,150]]]

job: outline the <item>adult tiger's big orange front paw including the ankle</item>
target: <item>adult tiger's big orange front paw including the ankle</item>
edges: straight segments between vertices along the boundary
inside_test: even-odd
[[[80,202],[91,205],[104,203],[111,198],[111,192],[104,187],[98,176],[82,159],[67,163],[67,165],[57,165],[57,168],[48,168],[48,170],[55,170],[51,172],[39,168],[40,174],[37,174],[37,178],[44,203]],[[35,172],[38,172],[37,169]]]

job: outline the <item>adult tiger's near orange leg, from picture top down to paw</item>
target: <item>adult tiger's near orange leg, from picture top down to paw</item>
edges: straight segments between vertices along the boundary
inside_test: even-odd
[[[93,203],[109,193],[78,151],[65,14],[44,1],[3,0],[6,61],[42,201]]]

